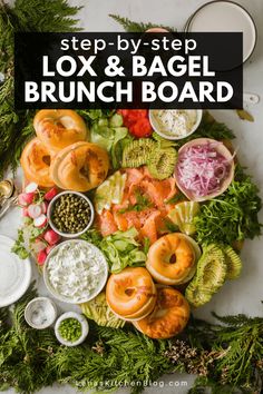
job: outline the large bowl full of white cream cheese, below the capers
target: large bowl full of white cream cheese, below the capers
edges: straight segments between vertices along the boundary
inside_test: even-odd
[[[56,246],[45,263],[43,280],[57,299],[81,304],[95,298],[108,277],[104,254],[82,239],[66,240]]]

